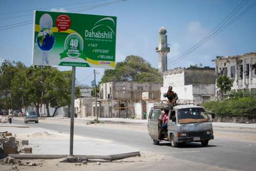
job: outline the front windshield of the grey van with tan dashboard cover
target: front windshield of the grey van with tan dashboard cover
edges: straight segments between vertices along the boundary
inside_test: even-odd
[[[210,119],[203,108],[178,109],[179,123],[209,122]]]

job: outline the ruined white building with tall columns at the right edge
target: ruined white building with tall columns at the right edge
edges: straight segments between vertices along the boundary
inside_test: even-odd
[[[256,52],[235,56],[217,56],[217,75],[227,75],[234,80],[231,90],[256,89]]]

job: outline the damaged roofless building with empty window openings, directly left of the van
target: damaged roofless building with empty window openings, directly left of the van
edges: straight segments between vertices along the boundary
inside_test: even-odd
[[[140,118],[160,101],[162,82],[106,82],[99,87],[100,117]]]

